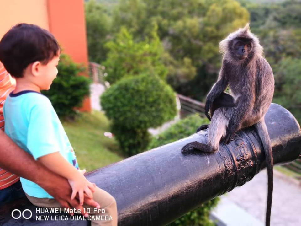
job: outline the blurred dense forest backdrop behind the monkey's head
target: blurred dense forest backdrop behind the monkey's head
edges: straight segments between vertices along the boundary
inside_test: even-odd
[[[292,71],[284,72],[281,66],[291,59],[301,59],[299,0],[90,0],[85,5],[89,59],[109,66],[108,80],[112,74],[109,58],[144,56],[135,51],[118,56],[112,41],[127,46],[131,40],[131,45],[143,49],[141,46],[155,40],[155,45],[161,44],[163,49],[149,54],[159,59],[159,68],[162,64],[167,68],[162,78],[166,76],[177,93],[201,101],[220,69],[219,41],[250,21],[276,78],[273,102],[282,104],[301,120],[298,98],[291,99],[292,94],[283,91],[296,84],[301,75],[288,74]],[[120,38],[125,31],[128,36]],[[123,63],[126,67],[120,70],[130,71],[127,74],[140,70],[139,65],[128,65],[126,60]],[[296,87],[297,92],[300,89]]]

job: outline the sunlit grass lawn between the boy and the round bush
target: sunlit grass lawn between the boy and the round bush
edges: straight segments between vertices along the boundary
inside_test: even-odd
[[[117,141],[103,135],[110,129],[102,112],[81,113],[75,121],[62,124],[81,169],[91,171],[124,159],[116,153],[119,149]]]

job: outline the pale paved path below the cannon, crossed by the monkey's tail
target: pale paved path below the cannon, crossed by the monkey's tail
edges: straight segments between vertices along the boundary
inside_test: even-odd
[[[274,170],[271,226],[300,226],[301,186],[289,180],[283,180],[284,177],[286,176]],[[244,209],[264,225],[267,199],[267,171],[262,170],[251,181],[241,187],[236,187],[223,195],[223,197]],[[237,225],[244,226],[239,223]]]

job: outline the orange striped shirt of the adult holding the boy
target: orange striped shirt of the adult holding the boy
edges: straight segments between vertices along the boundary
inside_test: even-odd
[[[4,131],[3,105],[6,97],[15,88],[15,80],[5,70],[0,62],[0,129]],[[1,144],[0,144],[1,145]],[[0,156],[1,158],[1,156]],[[19,176],[0,168],[0,190],[18,182]]]

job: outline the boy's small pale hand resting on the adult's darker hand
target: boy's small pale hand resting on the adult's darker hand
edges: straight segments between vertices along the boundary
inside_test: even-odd
[[[96,187],[94,183],[91,183],[85,178],[83,171],[84,170],[80,170],[79,174],[75,175],[74,178],[68,180],[72,188],[71,200],[73,200],[78,193],[80,205],[83,205],[84,202],[84,192],[86,193],[88,198],[92,199],[92,192],[95,191]]]

